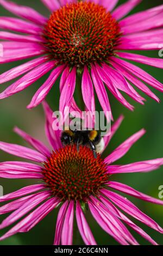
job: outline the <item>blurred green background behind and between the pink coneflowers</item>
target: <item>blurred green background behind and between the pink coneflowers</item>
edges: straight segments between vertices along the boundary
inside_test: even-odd
[[[110,0],[111,1],[111,0]],[[39,0],[29,0],[27,1],[14,1],[16,3],[29,5],[37,10],[39,10],[44,15],[49,15],[48,11],[45,7],[43,7],[41,1]],[[108,0],[109,2],[109,0]],[[125,1],[119,1],[123,3]],[[143,0],[142,3],[134,9],[133,13],[145,10],[147,8],[152,8],[156,5],[162,3],[162,0]],[[4,10],[1,7],[0,11],[1,16],[12,16],[8,11]],[[137,21],[139,22],[139,21]],[[163,42],[162,42],[163,43]],[[141,53],[141,52],[137,52]],[[157,51],[143,52],[150,57],[158,58]],[[26,60],[25,60],[26,61]],[[20,61],[17,63],[8,63],[1,65],[1,73],[16,66],[18,64],[24,63],[24,61]],[[162,70],[156,69],[150,66],[137,64],[151,75],[153,75],[160,82],[163,82],[162,78]],[[36,107],[32,111],[28,111],[26,106],[30,102],[30,99],[36,92],[41,84],[46,80],[48,75],[41,78],[35,84],[30,86],[28,89],[24,90],[21,93],[18,93],[14,96],[9,97],[8,99],[4,99],[0,101],[0,140],[10,143],[17,143],[21,145],[26,145],[26,143],[18,137],[13,131],[14,126],[18,126],[26,132],[30,133],[30,135],[42,139],[45,143],[47,143],[44,133],[44,116],[42,107]],[[11,82],[1,85],[1,91],[4,90],[7,86],[9,86]],[[152,89],[153,90],[153,89]],[[114,119],[116,119],[121,113],[124,114],[125,119],[112,139],[109,147],[104,153],[104,156],[108,155],[113,149],[117,147],[118,144],[122,143],[126,138],[132,135],[134,132],[140,130],[142,127],[145,127],[147,133],[143,138],[140,139],[129,151],[129,153],[124,156],[121,160],[117,161],[117,164],[126,164],[134,161],[148,160],[154,159],[158,157],[163,157],[162,145],[163,145],[163,105],[162,99],[163,95],[156,90],[153,90],[156,95],[158,95],[161,99],[161,103],[158,104],[154,100],[150,99],[148,96],[144,95],[147,99],[145,106],[141,106],[132,100],[128,99],[135,106],[134,113],[130,112],[128,109],[124,108],[117,100],[109,94],[109,99],[112,106],[112,112],[114,115]],[[141,94],[143,95],[143,94]],[[51,93],[47,97],[47,101],[49,105],[55,110],[58,110],[59,103],[59,86],[58,82],[55,84]],[[78,102],[78,99],[77,99]],[[98,104],[97,109],[100,110]],[[0,161],[13,161],[19,160],[20,158],[8,155],[6,153],[0,152]],[[147,193],[150,196],[158,198],[159,186],[163,185],[162,178],[163,167],[159,170],[155,170],[151,173],[133,173],[133,174],[119,174],[112,177],[112,180],[123,182],[129,186],[134,187],[136,190],[139,190],[143,193]],[[23,186],[27,186],[30,184],[35,184],[37,180],[12,180],[12,179],[1,179],[0,185],[4,188],[4,194],[10,193],[12,191],[18,190]],[[128,198],[130,198],[128,196]],[[160,205],[153,205],[151,203],[146,203],[138,199],[132,198],[132,202],[137,205],[143,212],[154,218],[162,227],[163,227],[163,208]],[[25,234],[16,234],[15,236],[10,237],[9,239],[0,242],[0,245],[52,245],[54,239],[54,231],[55,231],[55,222],[57,218],[58,209],[54,210],[49,214],[43,221],[36,225],[29,233]],[[1,216],[1,220],[5,216]],[[93,234],[97,240],[99,245],[117,245],[117,243],[112,239],[108,234],[106,234],[93,220],[90,213],[87,213],[87,220],[90,224]],[[138,223],[135,221],[135,223]],[[158,243],[163,245],[163,236],[151,228],[146,227],[145,225],[138,223],[140,227],[147,231],[153,239],[155,239]],[[0,234],[4,234],[5,229],[0,231]],[[135,235],[137,240],[142,245],[148,245],[144,239],[142,239],[139,235],[131,232]],[[79,239],[75,241],[75,243],[83,243],[82,240]]]

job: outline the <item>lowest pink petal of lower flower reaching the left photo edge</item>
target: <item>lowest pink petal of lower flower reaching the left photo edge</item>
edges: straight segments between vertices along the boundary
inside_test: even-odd
[[[29,214],[22,221],[18,222],[13,228],[11,228],[0,240],[6,239],[7,237],[14,235],[18,232],[27,232],[32,229],[37,223],[39,223],[49,212],[51,212],[57,205],[59,200],[51,198],[45,203],[41,204],[31,214]]]

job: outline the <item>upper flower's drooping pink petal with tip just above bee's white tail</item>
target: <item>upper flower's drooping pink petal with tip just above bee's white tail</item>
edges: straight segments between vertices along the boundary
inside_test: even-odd
[[[91,65],[91,76],[92,76],[92,81],[98,96],[99,103],[101,104],[104,114],[106,115],[106,118],[110,123],[110,118],[107,115],[108,111],[111,112],[108,94],[106,93],[104,84],[101,78],[98,76],[97,70],[94,65]]]

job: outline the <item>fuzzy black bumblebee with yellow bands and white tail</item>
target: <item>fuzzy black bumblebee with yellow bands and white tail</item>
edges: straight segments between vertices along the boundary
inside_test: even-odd
[[[104,149],[104,139],[100,133],[96,130],[74,130],[65,129],[61,133],[62,145],[77,144],[77,150],[79,145],[85,145],[93,151],[93,155],[96,158],[97,153],[102,153]]]

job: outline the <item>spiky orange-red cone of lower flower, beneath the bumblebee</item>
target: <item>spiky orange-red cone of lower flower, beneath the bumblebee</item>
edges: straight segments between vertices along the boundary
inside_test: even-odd
[[[51,188],[54,196],[62,200],[86,200],[96,195],[108,182],[106,164],[98,154],[93,157],[92,150],[76,144],[53,152],[42,170],[43,180]]]

